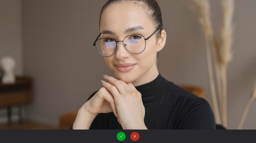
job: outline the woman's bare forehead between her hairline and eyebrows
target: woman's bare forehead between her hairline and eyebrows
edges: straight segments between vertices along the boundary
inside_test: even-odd
[[[153,26],[145,9],[134,2],[110,4],[101,15],[101,29],[127,29],[134,26]]]

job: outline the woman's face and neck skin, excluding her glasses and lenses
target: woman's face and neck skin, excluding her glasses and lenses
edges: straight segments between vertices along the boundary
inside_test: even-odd
[[[144,8],[131,2],[110,4],[101,15],[100,28],[102,38],[114,38],[116,41],[122,41],[124,37],[133,34],[147,38],[156,30]],[[139,86],[158,76],[157,52],[163,48],[163,44],[159,44],[157,33],[146,40],[146,48],[140,54],[130,53],[123,42],[117,42],[115,54],[104,57],[116,78]]]

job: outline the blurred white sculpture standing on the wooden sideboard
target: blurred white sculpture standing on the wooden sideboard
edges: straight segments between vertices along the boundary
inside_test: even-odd
[[[12,84],[15,82],[14,68],[16,66],[15,60],[11,56],[4,56],[1,58],[0,66],[3,70],[2,83]]]

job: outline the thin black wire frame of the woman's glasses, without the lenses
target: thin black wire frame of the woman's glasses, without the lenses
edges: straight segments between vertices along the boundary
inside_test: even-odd
[[[141,35],[141,36],[144,37],[144,39],[145,39],[145,47],[144,47],[144,50],[145,50],[145,48],[146,48],[146,40],[148,40],[150,37],[152,37],[159,29],[160,29],[160,27],[157,28],[157,29],[156,29],[149,37],[147,37],[147,38],[145,38],[143,35]],[[123,42],[123,44],[124,44],[124,39],[125,39],[126,37],[132,36],[132,35],[128,35],[128,36],[124,37],[124,39],[123,39],[122,41],[116,41],[116,39],[114,39],[114,38],[101,38],[101,39],[98,39],[98,38],[100,37],[100,35],[101,35],[101,33],[99,34],[99,36],[96,38],[96,40],[95,40],[94,43],[93,43],[93,46],[95,46],[96,50],[97,50],[96,42],[97,42],[98,40],[101,40],[101,39],[113,39],[113,40],[115,40],[115,42],[116,42],[115,52],[116,52],[116,50],[117,50],[117,42]],[[135,35],[140,35],[140,34],[135,34]],[[126,48],[126,44],[124,44],[124,47]],[[126,48],[126,50],[129,51],[127,48]],[[143,51],[144,51],[144,50],[143,50]],[[143,51],[141,51],[140,53],[142,53]],[[104,56],[104,55],[102,55],[98,50],[97,50],[97,52],[98,52],[101,56]],[[115,52],[113,52],[113,54],[115,54]],[[129,51],[129,52],[130,52],[130,51]],[[130,53],[132,53],[132,52],[130,52]],[[140,54],[140,53],[132,53],[132,54]],[[112,54],[112,55],[113,55],[113,54]],[[112,55],[110,55],[110,56],[112,56]],[[110,57],[110,56],[105,56],[105,57]]]

